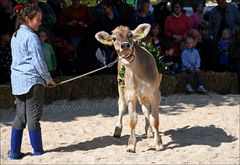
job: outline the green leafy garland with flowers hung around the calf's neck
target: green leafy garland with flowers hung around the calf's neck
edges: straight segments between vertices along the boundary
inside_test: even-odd
[[[163,56],[161,56],[157,48],[155,48],[151,43],[148,43],[146,45],[139,43],[139,46],[144,47],[145,49],[147,49],[147,51],[149,51],[149,53],[153,55],[153,57],[156,60],[159,73],[164,73],[167,70],[167,66],[163,62]],[[122,65],[119,71],[118,85],[125,85],[125,82],[124,82],[125,71],[126,71],[126,68]]]

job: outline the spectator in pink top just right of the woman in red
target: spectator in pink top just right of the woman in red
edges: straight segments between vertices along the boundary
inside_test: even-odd
[[[203,6],[201,3],[194,3],[192,9],[193,14],[190,16],[190,22],[193,28],[197,28],[202,21]]]

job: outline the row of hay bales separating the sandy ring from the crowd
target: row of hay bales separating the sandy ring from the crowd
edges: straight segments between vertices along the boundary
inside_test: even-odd
[[[71,77],[57,78],[55,81],[62,82]],[[184,93],[186,74],[180,73],[175,76],[163,75],[160,90],[162,95]],[[203,83],[209,92],[218,94],[237,94],[236,73],[203,73]],[[115,75],[84,77],[72,82],[62,84],[54,89],[45,90],[45,103],[55,100],[75,100],[81,98],[105,98],[117,97],[117,77]],[[193,87],[197,84],[194,81]],[[10,85],[0,85],[0,108],[8,108],[14,105],[14,96],[11,94]]]

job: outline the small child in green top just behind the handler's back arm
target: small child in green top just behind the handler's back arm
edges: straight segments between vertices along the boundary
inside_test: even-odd
[[[47,42],[47,32],[45,30],[40,30],[39,38],[42,44],[44,60],[47,64],[48,71],[52,77],[56,77],[57,61],[53,47]]]

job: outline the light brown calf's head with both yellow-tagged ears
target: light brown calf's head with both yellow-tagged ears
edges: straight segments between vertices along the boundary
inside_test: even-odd
[[[104,45],[113,45],[119,56],[127,58],[133,52],[134,41],[144,38],[150,28],[149,24],[140,24],[135,30],[130,30],[126,26],[118,26],[111,35],[100,31],[95,38]]]

